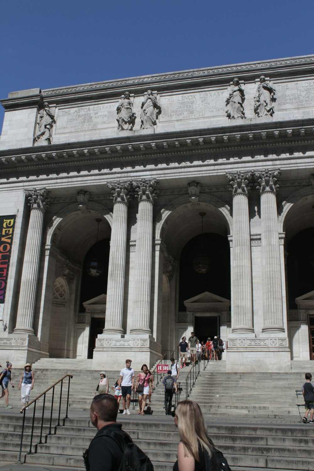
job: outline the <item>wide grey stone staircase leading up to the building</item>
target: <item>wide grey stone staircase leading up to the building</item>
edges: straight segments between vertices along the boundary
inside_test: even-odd
[[[40,401],[36,406],[32,453],[30,433],[32,406],[27,411],[22,448],[22,463],[68,466],[83,469],[82,453],[88,447],[96,429],[89,421],[89,405],[94,396],[99,372],[90,369],[91,362],[59,362],[40,360],[33,365],[35,388],[32,397],[45,390],[65,373],[72,373],[68,419],[57,427],[56,413],[52,419],[52,434],[48,435],[50,414],[45,413],[42,444],[40,438]],[[78,369],[77,367],[80,366]],[[309,365],[310,366],[310,365]],[[75,368],[76,367],[76,368]],[[73,369],[74,368],[74,369]],[[185,376],[188,368],[180,370],[181,399],[185,398]],[[308,371],[311,371],[309,369]],[[119,371],[107,371],[110,386],[118,379]],[[300,389],[304,371],[290,374],[226,373],[224,362],[209,362],[197,378],[189,398],[201,405],[215,445],[224,453],[233,471],[313,470],[314,426],[300,422],[295,390]],[[17,386],[17,375],[13,372]],[[55,402],[58,405],[58,387]],[[64,399],[67,380],[64,382]],[[113,392],[113,391],[112,391]],[[50,393],[48,393],[50,394]],[[10,389],[10,404],[4,402],[0,421],[1,462],[17,462],[22,430],[20,393]],[[3,401],[3,399],[2,399]],[[48,403],[48,396],[46,399]],[[138,416],[136,405],[131,415],[118,415],[118,422],[153,461],[156,471],[170,471],[177,459],[178,433],[171,416],[163,409],[163,388],[156,387],[145,416]],[[64,400],[61,418],[64,417]],[[57,412],[57,411],[56,411]],[[62,424],[64,423],[64,426]],[[2,450],[2,451],[1,451]]]

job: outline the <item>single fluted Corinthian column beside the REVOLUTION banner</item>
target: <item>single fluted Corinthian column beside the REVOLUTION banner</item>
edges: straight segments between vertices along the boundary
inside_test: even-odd
[[[25,191],[31,216],[27,230],[15,333],[33,334],[44,213],[52,200],[46,188]]]

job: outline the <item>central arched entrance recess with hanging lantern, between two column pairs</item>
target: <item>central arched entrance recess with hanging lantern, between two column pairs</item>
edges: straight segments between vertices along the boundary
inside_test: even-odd
[[[217,198],[204,195],[204,200],[191,203],[185,198],[179,198],[165,208],[156,223],[155,267],[160,282],[155,282],[154,333],[157,341],[162,338],[162,352],[173,351],[184,334],[186,337],[190,335],[195,318],[187,313],[185,300],[210,291],[224,298],[228,306],[230,304],[230,248],[227,237],[232,233],[230,210]],[[203,218],[203,241],[209,247],[213,264],[213,270],[206,275],[195,273],[192,267],[193,253],[200,245],[200,212],[206,213]],[[157,239],[157,235],[160,235],[160,239]],[[168,278],[169,271],[171,280]],[[168,283],[164,281],[165,274]],[[168,316],[166,312],[169,312]],[[218,325],[220,317],[218,320],[217,316],[215,320]],[[208,317],[211,317],[211,322],[213,316]],[[203,320],[200,316],[199,322]],[[222,335],[225,338],[227,326],[230,326],[229,310],[224,318]],[[170,335],[167,334],[169,331]]]

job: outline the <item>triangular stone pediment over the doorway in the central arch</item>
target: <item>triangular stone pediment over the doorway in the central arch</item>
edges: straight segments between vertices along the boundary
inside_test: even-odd
[[[184,305],[186,311],[194,315],[201,312],[227,314],[229,312],[230,300],[205,291],[185,300]]]

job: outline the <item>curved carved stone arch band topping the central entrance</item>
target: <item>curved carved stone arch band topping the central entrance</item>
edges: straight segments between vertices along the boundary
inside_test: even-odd
[[[229,234],[232,235],[233,233],[233,221],[232,221],[232,210],[228,204],[226,204],[223,200],[220,200],[219,198],[216,198],[216,196],[212,195],[204,195],[201,194],[199,203],[196,203],[198,207],[200,208],[200,211],[203,209],[202,208],[202,203],[208,203],[212,206],[214,206],[218,211],[222,213],[222,215],[225,217],[228,229],[229,229]],[[189,199],[189,195],[184,195],[176,198],[175,200],[171,201],[165,208],[163,208],[159,214],[157,214],[155,221],[154,221],[154,236],[155,239],[160,239],[161,238],[161,230],[163,225],[165,224],[167,218],[169,218],[169,215],[180,208],[180,206],[190,206],[193,208],[193,204],[191,203]]]

